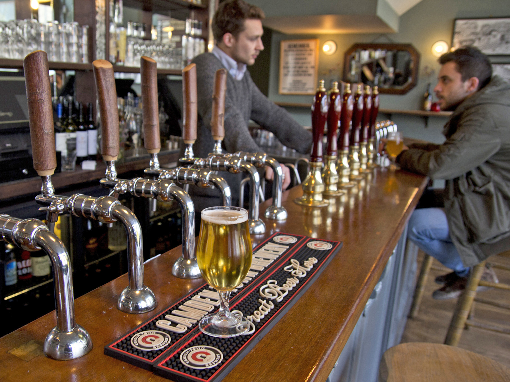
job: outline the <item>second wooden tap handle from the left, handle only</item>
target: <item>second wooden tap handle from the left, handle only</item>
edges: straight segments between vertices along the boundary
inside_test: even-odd
[[[105,160],[119,155],[119,113],[113,66],[106,60],[92,63],[101,116],[101,154]]]

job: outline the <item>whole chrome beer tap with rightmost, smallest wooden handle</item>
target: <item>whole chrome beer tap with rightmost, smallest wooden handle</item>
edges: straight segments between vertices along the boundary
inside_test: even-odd
[[[224,154],[221,149],[221,142],[223,141],[223,138],[225,138],[224,114],[226,76],[227,71],[224,68],[218,69],[214,76],[211,133],[215,140],[215,144],[213,152],[210,155],[231,156],[231,154]],[[284,173],[278,161],[263,152],[248,153],[238,151],[234,153],[234,155],[258,168],[265,168],[266,166],[271,167],[274,174],[272,189],[273,203],[266,209],[264,216],[267,217],[267,219],[272,220],[286,220],[287,210],[285,207],[282,207]]]

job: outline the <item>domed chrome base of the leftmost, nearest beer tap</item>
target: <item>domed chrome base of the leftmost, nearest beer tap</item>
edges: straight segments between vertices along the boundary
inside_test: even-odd
[[[70,332],[61,332],[53,328],[44,340],[43,351],[54,360],[74,360],[85,356],[92,350],[92,339],[89,333],[79,324]]]

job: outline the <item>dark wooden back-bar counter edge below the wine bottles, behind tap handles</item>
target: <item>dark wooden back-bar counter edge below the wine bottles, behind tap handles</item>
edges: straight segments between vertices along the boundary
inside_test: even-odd
[[[130,156],[125,161],[116,163],[117,173],[122,174],[129,171],[143,170],[149,166],[149,155],[145,149],[144,155]],[[162,167],[166,163],[176,162],[179,159],[179,150],[162,151],[159,160]],[[82,170],[77,167],[75,171],[60,172],[52,175],[53,186],[56,190],[62,187],[72,186],[99,180],[105,176],[106,165],[104,162],[98,162],[95,170]],[[23,195],[37,194],[41,189],[41,178],[34,177],[28,179],[13,180],[11,182],[0,183],[0,201],[20,197]]]

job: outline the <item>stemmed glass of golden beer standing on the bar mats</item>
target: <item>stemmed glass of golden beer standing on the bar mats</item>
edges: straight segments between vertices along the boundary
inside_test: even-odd
[[[196,258],[203,278],[220,297],[219,312],[204,316],[200,330],[223,338],[248,331],[246,319],[228,310],[232,290],[241,284],[251,266],[248,211],[224,206],[202,210]]]

